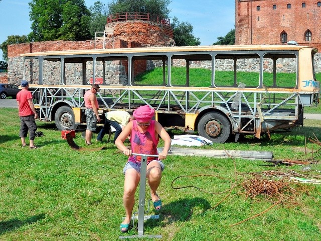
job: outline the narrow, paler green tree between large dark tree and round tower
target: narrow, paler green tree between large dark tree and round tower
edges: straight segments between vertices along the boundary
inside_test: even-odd
[[[95,36],[96,32],[102,32],[106,26],[107,20],[107,7],[101,2],[97,1],[94,6],[89,8],[90,11],[90,22],[89,22],[89,33],[91,36]]]

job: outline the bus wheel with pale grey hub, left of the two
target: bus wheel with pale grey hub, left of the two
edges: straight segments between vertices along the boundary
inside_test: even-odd
[[[55,113],[55,123],[59,131],[76,130],[75,114],[69,106],[61,106]]]

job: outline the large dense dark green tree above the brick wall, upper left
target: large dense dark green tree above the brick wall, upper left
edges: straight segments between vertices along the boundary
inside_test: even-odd
[[[32,41],[90,39],[90,12],[84,0],[32,0]]]

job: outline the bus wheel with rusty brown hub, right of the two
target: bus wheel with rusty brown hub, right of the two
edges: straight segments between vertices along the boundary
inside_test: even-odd
[[[231,134],[231,124],[228,119],[216,112],[209,112],[201,117],[197,126],[200,136],[214,143],[224,143]]]

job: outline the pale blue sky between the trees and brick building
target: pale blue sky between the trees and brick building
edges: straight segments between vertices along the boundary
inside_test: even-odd
[[[98,0],[85,0],[89,8]],[[107,0],[99,0],[105,6]],[[10,35],[28,35],[31,32],[29,5],[31,0],[2,0],[0,2],[0,43]],[[201,45],[212,45],[217,37],[225,36],[235,28],[235,1],[219,0],[172,0],[169,6],[170,19],[177,17],[180,22],[189,22],[193,34]],[[0,60],[3,61],[0,50]]]

